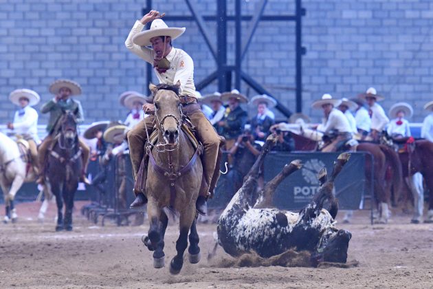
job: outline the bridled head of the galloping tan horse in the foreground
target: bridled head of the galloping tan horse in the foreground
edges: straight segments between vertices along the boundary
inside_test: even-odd
[[[182,121],[179,87],[179,81],[176,85],[149,85],[153,93],[158,129],[166,144],[176,144],[179,138]]]

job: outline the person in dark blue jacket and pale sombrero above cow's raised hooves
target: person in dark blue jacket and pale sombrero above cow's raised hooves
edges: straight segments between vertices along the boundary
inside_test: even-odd
[[[269,129],[275,123],[274,119],[267,114],[267,111],[276,106],[276,100],[262,94],[251,98],[249,103],[257,107],[257,115],[251,120],[252,133],[256,140],[264,141],[269,136]]]

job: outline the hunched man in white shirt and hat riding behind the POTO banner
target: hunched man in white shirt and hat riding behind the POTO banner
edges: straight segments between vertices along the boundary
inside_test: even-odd
[[[332,98],[331,94],[324,94],[322,99],[316,100],[311,105],[313,109],[323,109],[324,112],[324,121],[318,126],[318,131],[322,131],[325,135],[327,133],[337,134],[337,137],[322,149],[324,152],[338,151],[352,139],[351,125],[342,111],[335,108],[340,103],[341,100]]]

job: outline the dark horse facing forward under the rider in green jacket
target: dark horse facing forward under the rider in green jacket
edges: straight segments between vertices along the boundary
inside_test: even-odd
[[[77,122],[71,111],[58,120],[58,133],[47,154],[45,184],[56,196],[58,219],[56,231],[72,231],[72,208],[82,169],[81,149],[78,145]],[[63,202],[65,218],[63,219]]]

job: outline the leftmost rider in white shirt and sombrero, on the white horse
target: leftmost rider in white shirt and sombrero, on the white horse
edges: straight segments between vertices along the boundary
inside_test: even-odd
[[[38,175],[38,150],[41,142],[38,137],[38,113],[32,106],[37,105],[41,98],[31,89],[16,89],[9,95],[9,100],[20,107],[15,112],[14,122],[8,122],[8,129],[27,140],[30,157],[35,175]]]

